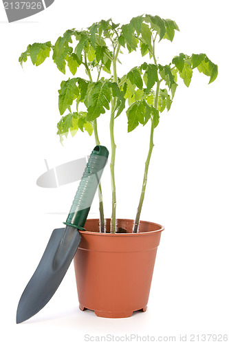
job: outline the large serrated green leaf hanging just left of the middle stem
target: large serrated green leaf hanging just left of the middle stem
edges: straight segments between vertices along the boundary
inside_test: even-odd
[[[92,83],[87,94],[87,121],[95,120],[100,114],[105,114],[105,108],[109,110],[110,101],[110,83],[102,81]]]

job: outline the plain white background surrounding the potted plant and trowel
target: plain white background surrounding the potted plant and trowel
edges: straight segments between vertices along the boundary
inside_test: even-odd
[[[129,319],[102,319],[78,309],[74,268],[39,314],[16,325],[21,292],[41,259],[47,241],[65,220],[77,182],[42,189],[36,179],[50,168],[88,155],[94,137],[77,133],[61,146],[56,135],[58,88],[69,74],[52,58],[22,69],[18,58],[29,43],[52,41],[70,28],[112,17],[127,23],[142,13],[173,19],[173,43],[162,41],[160,63],[173,56],[204,52],[219,65],[219,76],[193,73],[180,80],[171,111],[155,129],[142,219],[166,228],[157,251],[147,312]],[[0,6],[1,87],[1,343],[84,343],[90,336],[125,333],[149,336],[226,334],[228,327],[228,1],[56,0],[34,17],[8,23]],[[131,54],[118,73],[139,65]],[[98,120],[109,148],[109,114]],[[116,119],[117,215],[133,218],[146,159],[149,127],[127,134],[127,118]],[[103,176],[105,215],[111,215],[109,165]],[[98,217],[97,197],[90,217]],[[112,262],[111,262],[112,269]],[[117,292],[122,292],[122,286]],[[188,337],[189,338],[189,337]],[[188,341],[187,338],[187,341]],[[211,341],[210,341],[211,342]]]

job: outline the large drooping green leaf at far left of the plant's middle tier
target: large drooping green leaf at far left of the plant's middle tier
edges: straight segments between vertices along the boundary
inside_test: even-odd
[[[72,105],[73,100],[79,95],[78,87],[76,86],[77,78],[62,81],[59,92],[58,107],[60,114],[63,115],[65,110]]]

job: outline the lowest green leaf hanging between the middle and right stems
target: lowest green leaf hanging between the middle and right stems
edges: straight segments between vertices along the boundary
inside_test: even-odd
[[[150,118],[150,114],[151,107],[149,107],[145,100],[133,103],[127,109],[128,132],[138,127],[139,123],[145,125]]]

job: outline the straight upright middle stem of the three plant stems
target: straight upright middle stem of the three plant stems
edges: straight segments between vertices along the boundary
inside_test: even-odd
[[[118,44],[117,50],[113,50],[113,81],[118,83],[116,61],[118,58],[118,53],[120,50],[120,44]],[[111,120],[110,120],[110,136],[111,136],[111,191],[112,191],[112,213],[111,213],[111,233],[116,233],[116,181],[114,166],[116,160],[116,142],[114,140],[113,134],[113,125],[115,118],[115,107],[116,107],[116,98],[111,97]]]

